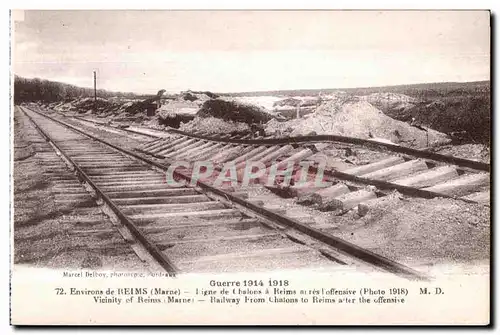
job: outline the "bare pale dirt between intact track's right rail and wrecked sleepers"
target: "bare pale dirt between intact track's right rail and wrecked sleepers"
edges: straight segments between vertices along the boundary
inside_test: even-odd
[[[460,200],[390,195],[381,206],[360,217],[321,212],[280,198],[263,187],[250,189],[251,200],[359,245],[389,259],[426,271],[460,264],[465,268],[490,260],[490,207]]]

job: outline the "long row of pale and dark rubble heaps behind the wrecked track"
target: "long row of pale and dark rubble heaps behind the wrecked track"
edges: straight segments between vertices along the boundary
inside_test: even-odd
[[[335,134],[415,148],[449,143],[450,138],[444,133],[387,115],[387,111],[405,111],[421,103],[396,93],[355,96],[336,91],[317,96],[222,98],[211,92],[168,95],[162,90],[155,98],[146,100],[99,98],[94,103],[93,98],[79,98],[49,107],[62,112],[112,116],[156,129],[168,126],[185,131],[232,133],[265,125],[266,135],[279,137]],[[440,107],[439,102],[434,104]]]

